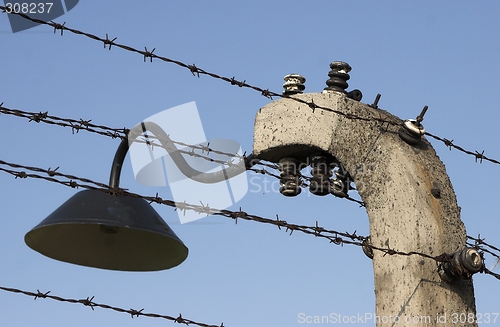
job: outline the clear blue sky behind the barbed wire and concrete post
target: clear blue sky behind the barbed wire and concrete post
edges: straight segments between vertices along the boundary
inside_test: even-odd
[[[402,119],[424,105],[426,129],[471,151],[500,159],[500,4],[496,1],[81,1],[56,19],[66,26],[137,49],[235,76],[281,92],[283,76],[300,73],[306,92],[320,92],[329,63],[348,62],[349,89]],[[65,32],[38,26],[13,34],[0,15],[0,103],[132,127],[162,110],[195,101],[209,139],[238,141],[251,152],[258,92]],[[118,140],[0,116],[0,159],[106,183]],[[500,166],[431,140],[453,183],[467,233],[500,244]],[[249,174],[249,193],[231,210],[289,222],[368,234],[358,205],[303,192],[296,198],[264,190],[275,180]],[[0,174],[0,285],[51,291],[68,298],[142,309],[224,326],[296,326],[298,314],[374,312],[373,269],[361,249],[309,235],[288,235],[257,222],[208,217],[180,224],[155,205],[188,246],[180,266],[151,273],[105,271],[48,259],[24,235],[76,190]],[[170,198],[168,187],[141,186],[130,161],[121,185]],[[261,187],[259,187],[261,186]],[[353,195],[356,196],[356,195]],[[487,265],[494,261],[487,257]],[[497,273],[499,269],[495,270]],[[478,313],[499,312],[500,281],[474,276]],[[160,319],[0,292],[2,326],[160,326]],[[497,320],[496,324],[500,325]],[[373,326],[373,322],[367,323]]]

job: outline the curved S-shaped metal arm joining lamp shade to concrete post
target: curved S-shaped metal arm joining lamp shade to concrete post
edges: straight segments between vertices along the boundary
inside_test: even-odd
[[[245,172],[248,168],[252,167],[256,162],[254,159],[254,155],[251,154],[248,157],[244,157],[244,166],[240,165],[240,163],[230,164],[227,168],[212,172],[205,173],[191,167],[186,159],[182,156],[181,152],[175,146],[175,143],[170,139],[169,135],[165,133],[165,131],[153,122],[142,122],[134,126],[128,133],[128,137],[126,139],[122,139],[118,149],[116,150],[115,157],[113,159],[113,163],[111,166],[111,173],[109,176],[109,187],[118,188],[120,185],[120,174],[123,166],[123,162],[125,160],[125,156],[127,155],[129,144],[134,142],[134,140],[139,137],[142,133],[150,131],[153,133],[161,145],[165,150],[167,150],[168,154],[174,161],[175,165],[179,170],[188,178],[195,180],[200,183],[212,184],[219,183],[221,181],[227,180],[234,176],[237,176],[243,172]]]

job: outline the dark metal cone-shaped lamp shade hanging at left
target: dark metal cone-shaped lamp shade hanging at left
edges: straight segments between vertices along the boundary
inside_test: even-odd
[[[169,269],[188,255],[146,200],[96,190],[75,194],[24,240],[47,257],[111,270]]]

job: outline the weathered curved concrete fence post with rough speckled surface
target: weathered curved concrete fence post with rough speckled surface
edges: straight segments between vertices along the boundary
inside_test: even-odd
[[[339,93],[294,97],[361,117],[401,122]],[[273,162],[283,157],[304,160],[318,150],[337,157],[366,204],[375,246],[433,256],[463,249],[465,228],[443,163],[427,140],[410,146],[398,129],[321,109],[313,112],[305,104],[280,99],[256,116],[254,154]],[[432,195],[437,189],[440,197]],[[395,326],[457,326],[452,320],[457,314],[475,314],[471,281],[442,282],[432,259],[374,252],[377,326],[392,326],[397,319]]]

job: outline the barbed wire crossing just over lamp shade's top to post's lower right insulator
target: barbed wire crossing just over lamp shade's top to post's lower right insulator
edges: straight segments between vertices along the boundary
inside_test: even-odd
[[[30,166],[24,166],[20,164],[14,164],[14,163],[8,163],[3,160],[0,160],[0,165],[4,166],[9,166],[15,169],[24,169],[24,170],[29,170],[29,171],[34,171],[34,172],[40,172],[44,173],[48,176],[43,176],[39,174],[33,174],[33,173],[27,173],[24,170],[11,170],[11,169],[6,169],[3,167],[0,167],[0,171],[3,171],[5,173],[8,173],[12,176],[14,176],[16,179],[17,178],[35,178],[35,179],[42,179],[46,180],[49,182],[54,182],[58,183],[64,186],[69,186],[71,188],[85,188],[85,189],[91,189],[91,190],[98,190],[107,194],[111,195],[116,195],[116,196],[131,196],[131,197],[136,197],[136,198],[142,198],[145,199],[146,201],[149,201],[149,203],[158,203],[158,204],[163,204],[167,205],[170,207],[175,207],[176,210],[180,211],[186,211],[186,210],[192,210],[195,211],[199,214],[206,214],[208,215],[215,215],[215,216],[222,216],[226,218],[233,219],[235,223],[238,223],[238,219],[244,219],[244,220],[250,220],[250,221],[255,221],[259,223],[265,223],[265,224],[270,224],[278,227],[279,230],[283,227],[286,232],[290,232],[290,235],[293,234],[294,231],[299,231],[308,235],[312,235],[315,237],[319,238],[324,238],[329,240],[330,243],[334,243],[336,245],[341,245],[343,246],[344,244],[349,244],[349,245],[356,245],[360,247],[365,247],[365,248],[370,248],[372,250],[380,251],[385,255],[402,255],[402,256],[412,256],[412,255],[417,255],[420,257],[432,259],[436,262],[447,262],[451,259],[451,256],[449,254],[443,253],[440,255],[429,255],[426,253],[421,253],[417,251],[409,251],[409,252],[404,252],[404,251],[398,251],[395,249],[391,248],[383,248],[383,247],[378,247],[369,242],[369,237],[368,236],[361,236],[357,235],[356,231],[353,233],[349,232],[339,232],[336,230],[331,230],[331,229],[326,229],[318,225],[318,222],[316,221],[315,226],[306,226],[306,225],[298,225],[298,224],[293,224],[293,223],[288,223],[285,220],[281,220],[278,215],[276,215],[276,219],[270,219],[270,218],[265,218],[261,217],[258,215],[254,214],[248,214],[245,211],[242,211],[240,208],[239,211],[231,211],[231,210],[219,210],[215,208],[211,208],[208,204],[205,205],[201,203],[201,205],[196,205],[196,204],[190,204],[186,202],[175,202],[173,200],[164,200],[161,197],[158,196],[158,193],[155,196],[145,196],[145,195],[140,195],[137,193],[129,192],[126,189],[123,188],[111,188],[108,185],[100,182],[95,182],[92,181],[88,178],[82,178],[82,177],[77,177],[74,175],[68,175],[68,174],[63,174],[58,171],[57,169],[43,169],[43,168],[38,168],[38,167],[30,167]],[[68,180],[59,180],[56,177],[64,177],[67,178]],[[80,181],[81,183],[77,182]],[[473,239],[473,238],[471,238]],[[480,241],[481,244],[486,245],[484,240]],[[490,245],[488,245],[490,246]],[[496,249],[496,247],[490,246],[493,249]],[[495,278],[500,280],[500,275],[491,272],[488,270],[486,267],[483,267],[481,270],[482,273],[486,273],[489,275],[494,276]]]

